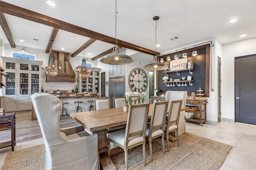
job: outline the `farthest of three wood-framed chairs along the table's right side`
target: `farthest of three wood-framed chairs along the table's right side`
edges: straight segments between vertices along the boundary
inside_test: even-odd
[[[166,135],[166,142],[167,142],[167,150],[170,151],[169,148],[169,136],[170,132],[176,131],[176,139],[177,139],[177,146],[179,145],[179,133],[178,133],[178,124],[180,119],[180,109],[182,105],[182,100],[172,100],[170,104],[170,108],[168,111],[168,117],[166,125],[164,126],[164,133]]]

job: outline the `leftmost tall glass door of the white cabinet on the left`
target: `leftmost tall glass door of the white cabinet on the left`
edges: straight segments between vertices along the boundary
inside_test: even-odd
[[[5,78],[5,84],[6,84],[6,88],[5,88],[5,95],[16,95],[16,72],[6,72],[7,75],[4,77]]]

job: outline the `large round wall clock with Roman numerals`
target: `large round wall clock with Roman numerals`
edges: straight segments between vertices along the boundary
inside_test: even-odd
[[[146,72],[141,68],[134,68],[130,72],[128,83],[133,92],[145,92],[148,87]]]

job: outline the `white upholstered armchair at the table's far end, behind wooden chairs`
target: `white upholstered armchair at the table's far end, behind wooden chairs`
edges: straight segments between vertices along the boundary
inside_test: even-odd
[[[169,106],[172,100],[182,100],[182,106],[186,107],[187,102],[187,91],[167,91],[165,93],[165,100],[169,101]],[[180,119],[179,119],[179,130],[178,134],[181,135],[186,132],[185,128],[185,111],[180,112]]]

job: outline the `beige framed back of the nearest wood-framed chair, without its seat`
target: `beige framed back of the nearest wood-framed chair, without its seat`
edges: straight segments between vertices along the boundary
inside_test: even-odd
[[[124,144],[126,147],[128,147],[129,138],[136,135],[141,135],[145,141],[146,124],[148,122],[148,110],[149,103],[129,106],[124,139]]]

